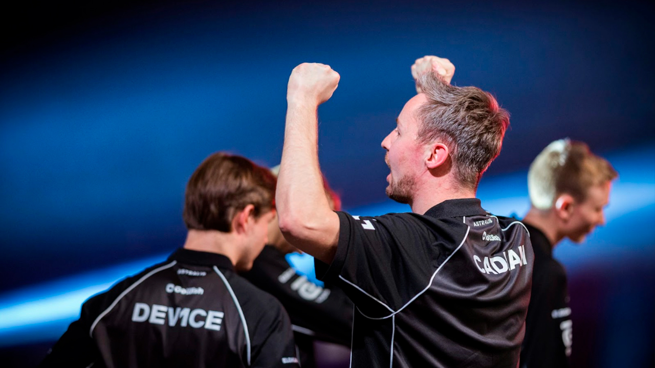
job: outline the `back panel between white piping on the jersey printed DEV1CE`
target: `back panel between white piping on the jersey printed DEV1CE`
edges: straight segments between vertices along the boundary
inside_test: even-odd
[[[219,272],[172,261],[138,278],[92,325],[103,360],[114,367],[245,367],[244,322]]]

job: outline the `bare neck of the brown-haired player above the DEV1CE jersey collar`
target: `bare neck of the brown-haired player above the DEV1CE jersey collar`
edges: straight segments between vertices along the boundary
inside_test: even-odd
[[[225,255],[235,267],[241,258],[241,248],[234,232],[189,230],[184,248]]]

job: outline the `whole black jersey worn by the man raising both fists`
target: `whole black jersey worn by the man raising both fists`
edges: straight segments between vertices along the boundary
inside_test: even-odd
[[[337,213],[337,253],[316,274],[356,306],[352,367],[517,367],[534,259],[522,223],[475,198]]]

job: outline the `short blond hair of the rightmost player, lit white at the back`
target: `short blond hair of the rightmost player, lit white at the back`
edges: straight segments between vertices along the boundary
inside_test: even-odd
[[[528,192],[534,208],[548,210],[561,194],[584,202],[590,187],[616,179],[618,173],[588,145],[571,139],[550,143],[534,158],[528,172]]]

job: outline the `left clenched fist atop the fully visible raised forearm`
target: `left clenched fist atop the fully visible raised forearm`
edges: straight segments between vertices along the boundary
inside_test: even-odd
[[[287,101],[316,104],[332,97],[339,85],[339,73],[329,65],[303,63],[293,68],[287,86]]]

